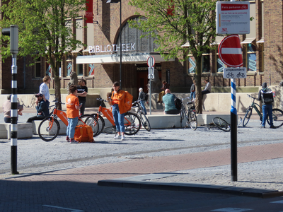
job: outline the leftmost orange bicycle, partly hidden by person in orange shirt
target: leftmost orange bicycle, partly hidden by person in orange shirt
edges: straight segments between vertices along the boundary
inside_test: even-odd
[[[55,105],[50,106],[50,108],[54,107],[52,112],[50,113],[50,117],[43,119],[38,126],[38,135],[43,141],[52,141],[58,136],[61,128],[57,120],[58,118],[61,119],[66,126],[68,126],[67,114],[62,110],[56,109],[57,104],[64,103],[58,102],[57,99],[55,99],[53,102],[55,102]],[[93,137],[96,136],[99,126],[95,117],[90,114],[83,114],[79,117],[78,124],[76,125],[80,124],[87,124],[88,126],[91,126],[91,128],[93,129]]]

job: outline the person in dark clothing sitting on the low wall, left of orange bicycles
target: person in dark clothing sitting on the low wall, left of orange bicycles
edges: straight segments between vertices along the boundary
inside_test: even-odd
[[[42,93],[37,93],[35,95],[37,100],[35,101],[35,109],[36,109],[36,116],[30,117],[27,122],[33,122],[35,120],[43,120],[46,117],[49,117],[49,108],[48,108],[48,103],[43,100],[43,95]]]

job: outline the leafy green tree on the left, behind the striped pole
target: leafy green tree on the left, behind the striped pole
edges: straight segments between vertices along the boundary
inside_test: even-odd
[[[0,21],[1,28],[18,25],[18,56],[30,55],[33,59],[45,57],[52,68],[55,84],[55,97],[61,102],[59,66],[62,57],[81,45],[72,34],[74,18],[85,9],[86,0],[4,0]],[[76,25],[76,28],[79,26]],[[1,36],[1,55],[11,56],[9,37]],[[59,105],[61,109],[61,105]]]

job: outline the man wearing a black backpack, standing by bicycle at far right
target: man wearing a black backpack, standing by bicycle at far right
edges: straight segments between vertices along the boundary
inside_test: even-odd
[[[270,88],[267,88],[267,83],[262,83],[262,89],[258,92],[258,100],[262,102],[262,124],[260,127],[265,128],[268,115],[270,117],[270,128],[275,129],[272,119],[273,93]]]

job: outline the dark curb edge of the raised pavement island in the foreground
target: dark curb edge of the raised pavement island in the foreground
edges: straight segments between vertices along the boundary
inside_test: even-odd
[[[215,185],[215,184],[196,184],[196,183],[180,183],[180,182],[149,182],[144,181],[146,176],[163,175],[172,176],[177,173],[156,173],[151,175],[140,175],[135,177],[125,177],[118,179],[103,179],[98,181],[98,186],[104,187],[120,187],[133,189],[160,189],[168,191],[180,192],[202,192],[202,193],[216,193],[216,194],[233,194],[238,196],[252,196],[260,198],[271,198],[275,196],[282,196],[283,192],[272,189],[255,189],[249,187],[234,187],[229,185]]]

